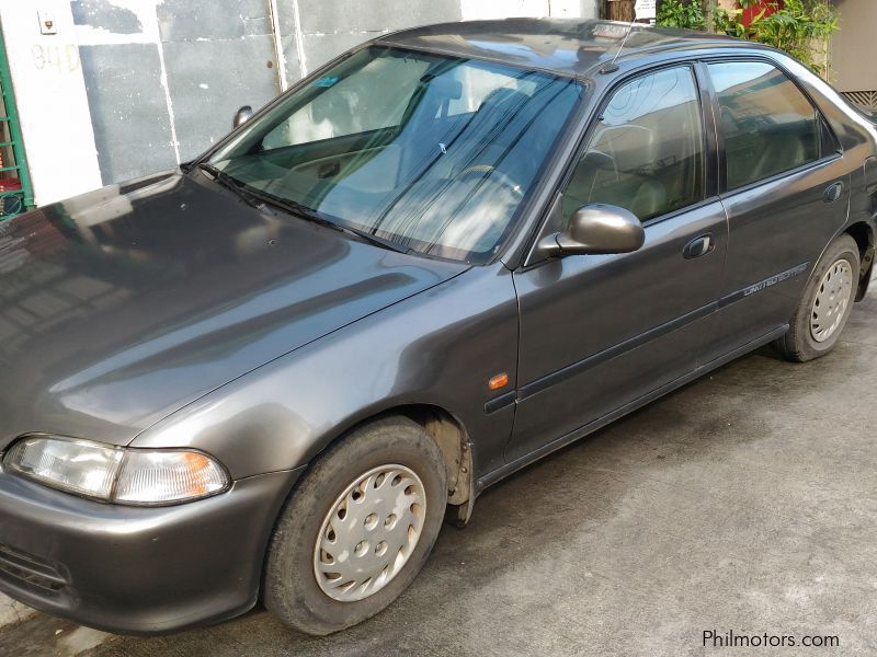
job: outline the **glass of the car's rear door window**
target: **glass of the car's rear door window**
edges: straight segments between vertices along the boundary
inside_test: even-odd
[[[721,112],[728,188],[819,159],[820,119],[782,71],[761,61],[710,64]]]

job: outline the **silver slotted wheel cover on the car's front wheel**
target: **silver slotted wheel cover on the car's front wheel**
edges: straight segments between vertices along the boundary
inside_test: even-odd
[[[314,575],[341,602],[375,595],[402,569],[420,540],[426,492],[405,465],[361,474],[338,496],[320,526]]]

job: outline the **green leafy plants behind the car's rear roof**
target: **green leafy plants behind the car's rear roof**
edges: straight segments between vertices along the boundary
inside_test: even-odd
[[[740,0],[744,9],[758,4],[758,0]],[[778,2],[771,0],[765,5],[776,11],[767,14],[762,10],[749,25],[742,23],[742,9],[726,11],[715,8],[713,26],[719,34],[756,41],[785,50],[815,72],[824,74],[824,66],[817,58],[824,55],[828,38],[839,27],[836,10],[825,0],[785,0],[782,8]]]

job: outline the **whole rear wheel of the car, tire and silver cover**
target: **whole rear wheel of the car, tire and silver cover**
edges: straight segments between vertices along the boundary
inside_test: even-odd
[[[842,235],[831,243],[813,270],[788,333],[774,343],[783,356],[805,362],[834,348],[853,310],[859,266],[853,238]]]

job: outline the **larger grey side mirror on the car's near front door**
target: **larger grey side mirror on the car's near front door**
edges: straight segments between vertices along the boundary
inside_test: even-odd
[[[544,256],[630,253],[646,242],[646,231],[636,216],[617,206],[592,203],[572,215],[567,230],[543,238]]]

